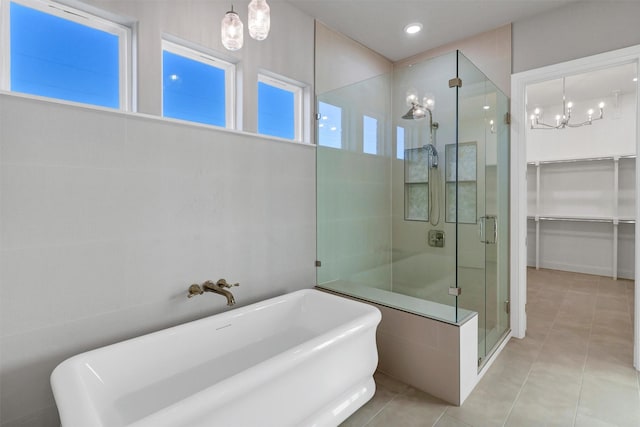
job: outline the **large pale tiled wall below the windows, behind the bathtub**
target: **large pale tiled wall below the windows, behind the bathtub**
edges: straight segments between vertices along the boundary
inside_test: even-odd
[[[0,94],[0,425],[63,359],[315,284],[315,149]]]

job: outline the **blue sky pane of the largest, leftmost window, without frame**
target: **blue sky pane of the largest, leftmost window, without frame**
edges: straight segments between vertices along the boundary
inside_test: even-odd
[[[118,36],[10,5],[11,90],[120,107]]]

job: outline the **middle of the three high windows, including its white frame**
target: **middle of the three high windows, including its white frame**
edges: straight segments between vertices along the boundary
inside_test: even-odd
[[[234,64],[162,41],[164,117],[233,128],[234,94]]]

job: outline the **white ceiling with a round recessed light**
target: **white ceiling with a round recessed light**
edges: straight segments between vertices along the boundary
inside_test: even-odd
[[[286,0],[398,61],[579,0]],[[420,22],[413,36],[404,27]]]

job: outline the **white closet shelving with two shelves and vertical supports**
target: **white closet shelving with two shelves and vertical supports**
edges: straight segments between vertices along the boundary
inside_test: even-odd
[[[618,278],[620,224],[635,224],[635,155],[575,158],[528,162],[527,219],[535,222],[535,267],[540,268],[540,226],[544,222],[611,224],[613,253],[611,276]],[[589,171],[591,166],[592,171]],[[556,184],[550,170],[565,181]],[[535,173],[535,177],[534,177]],[[571,174],[574,174],[571,177]],[[622,176],[621,176],[622,175]],[[621,179],[622,178],[622,179]],[[573,180],[573,181],[572,181]],[[548,189],[546,186],[558,188]],[[607,188],[608,186],[608,188]],[[562,197],[565,196],[565,197]],[[584,200],[581,200],[583,196]],[[569,200],[565,200],[569,199]],[[575,200],[570,200],[575,199]],[[585,214],[586,211],[586,214]]]

